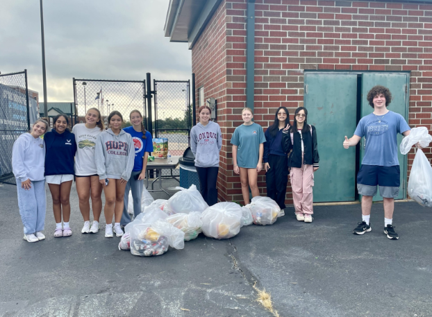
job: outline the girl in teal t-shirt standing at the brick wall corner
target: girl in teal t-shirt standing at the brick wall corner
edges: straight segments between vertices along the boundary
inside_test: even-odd
[[[242,110],[244,123],[235,128],[233,144],[234,173],[240,174],[244,204],[249,204],[249,187],[252,197],[260,196],[258,173],[263,169],[265,136],[263,128],[252,121],[254,114],[250,108]]]

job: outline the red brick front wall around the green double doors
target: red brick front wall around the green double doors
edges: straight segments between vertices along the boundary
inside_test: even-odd
[[[232,174],[229,139],[234,128],[242,123],[240,112],[246,101],[246,7],[246,0],[225,0],[218,10],[219,15],[225,13],[226,22],[226,36],[221,37],[226,48],[226,89],[224,108],[221,114],[218,111],[218,119],[225,128],[221,166],[227,200],[242,200],[238,176]],[[303,105],[304,69],[332,69],[411,71],[408,123],[411,127],[420,125],[431,130],[432,5],[256,0],[255,29],[254,119],[261,126],[272,123],[279,106],[293,113]],[[200,41],[205,36],[201,35]],[[192,56],[194,50],[195,47]],[[192,58],[197,74],[194,64]],[[219,105],[219,99],[217,102]],[[424,152],[431,160],[431,148]],[[408,170],[413,158],[412,151],[408,155]],[[264,194],[263,172],[258,182]],[[228,187],[231,183],[233,186]],[[287,197],[287,203],[292,203],[290,193]]]

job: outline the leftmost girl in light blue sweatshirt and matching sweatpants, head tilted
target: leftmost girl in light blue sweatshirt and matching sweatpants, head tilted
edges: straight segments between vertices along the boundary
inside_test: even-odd
[[[42,231],[47,212],[45,194],[45,146],[42,135],[48,122],[38,119],[30,133],[20,135],[13,144],[12,170],[17,180],[19,214],[24,225],[24,240],[45,239]]]

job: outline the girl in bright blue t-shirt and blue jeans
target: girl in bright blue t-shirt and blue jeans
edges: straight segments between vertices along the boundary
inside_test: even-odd
[[[124,192],[124,207],[122,215],[122,225],[127,225],[131,222],[131,216],[128,214],[128,195],[129,190],[132,191],[133,198],[133,214],[138,216],[141,210],[141,196],[144,188],[144,178],[146,177],[147,157],[153,152],[153,142],[151,133],[146,131],[142,123],[142,115],[138,110],[132,110],[129,114],[132,126],[124,128],[124,132],[132,136],[133,144],[135,145],[135,161],[131,178],[129,178]]]

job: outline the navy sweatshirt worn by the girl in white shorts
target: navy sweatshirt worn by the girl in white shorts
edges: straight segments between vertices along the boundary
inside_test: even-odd
[[[76,153],[75,135],[65,130],[61,135],[51,130],[44,135],[47,154],[45,155],[45,175],[74,174]]]

